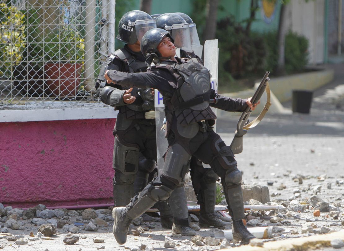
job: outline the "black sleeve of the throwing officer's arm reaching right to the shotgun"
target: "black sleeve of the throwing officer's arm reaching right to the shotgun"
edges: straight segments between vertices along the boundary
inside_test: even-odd
[[[214,89],[211,89],[210,98],[217,98],[217,103],[211,103],[211,107],[215,107],[225,111],[239,111],[243,112],[246,107],[246,100],[241,98],[230,98],[218,94]]]

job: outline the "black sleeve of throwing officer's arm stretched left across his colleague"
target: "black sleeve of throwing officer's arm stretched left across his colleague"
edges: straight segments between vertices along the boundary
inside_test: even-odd
[[[173,76],[160,69],[140,73],[125,73],[109,70],[107,75],[117,85],[125,88],[154,88],[165,94],[173,94],[173,87],[170,83],[176,85],[176,80]]]

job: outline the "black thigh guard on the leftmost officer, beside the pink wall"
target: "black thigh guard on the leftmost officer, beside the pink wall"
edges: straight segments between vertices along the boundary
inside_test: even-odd
[[[123,174],[136,174],[139,169],[139,148],[123,145],[115,137],[113,167]]]

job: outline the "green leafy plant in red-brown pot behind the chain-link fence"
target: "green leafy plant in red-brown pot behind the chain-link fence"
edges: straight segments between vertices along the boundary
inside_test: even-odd
[[[62,99],[75,98],[80,85],[84,40],[70,23],[44,37],[44,73],[49,89]]]

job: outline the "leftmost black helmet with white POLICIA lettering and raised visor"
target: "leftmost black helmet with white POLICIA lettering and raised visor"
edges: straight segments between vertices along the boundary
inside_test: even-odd
[[[146,12],[129,11],[119,20],[117,39],[127,44],[135,44],[141,41],[148,30],[156,27],[155,20]]]

